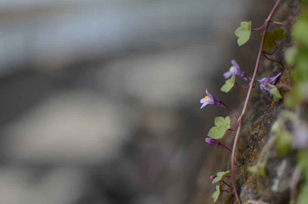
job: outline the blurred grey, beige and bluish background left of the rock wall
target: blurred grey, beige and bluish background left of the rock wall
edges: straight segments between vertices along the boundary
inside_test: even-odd
[[[0,203],[194,203],[229,115],[199,100],[230,97],[233,32],[256,6],[0,0]]]

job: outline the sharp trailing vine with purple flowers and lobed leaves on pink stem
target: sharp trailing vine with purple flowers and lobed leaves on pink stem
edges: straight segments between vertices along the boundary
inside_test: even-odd
[[[252,77],[249,77],[248,75],[245,74],[244,71],[241,71],[240,66],[237,64],[237,62],[233,59],[231,60],[231,63],[233,66],[230,67],[229,71],[224,73],[224,77],[228,80],[225,81],[225,84],[221,87],[221,91],[228,93],[230,91],[232,91],[233,87],[235,86],[235,84],[237,84],[238,86],[242,87],[242,88],[248,88],[248,93],[246,96],[246,100],[245,100],[245,104],[244,107],[242,109],[241,115],[237,116],[231,108],[229,108],[225,103],[223,103],[219,98],[214,98],[211,94],[209,94],[208,90],[206,89],[206,94],[207,96],[205,96],[205,98],[202,98],[200,100],[200,102],[202,103],[201,108],[203,108],[205,105],[208,104],[212,104],[215,106],[220,106],[223,108],[228,108],[232,114],[235,116],[235,118],[237,119],[237,123],[236,123],[236,128],[235,129],[230,129],[231,128],[231,120],[230,117],[216,117],[215,118],[215,126],[213,128],[211,128],[209,130],[208,133],[208,138],[206,138],[206,142],[209,143],[210,145],[213,145],[215,147],[225,147],[226,149],[228,149],[231,153],[231,170],[225,171],[225,172],[218,172],[216,176],[211,176],[210,179],[213,180],[212,183],[216,183],[216,182],[222,182],[220,185],[216,186],[216,191],[213,194],[213,198],[214,198],[214,203],[217,202],[218,198],[220,197],[221,193],[226,191],[230,194],[234,194],[237,202],[239,204],[241,204],[241,199],[238,195],[237,192],[237,186],[236,186],[236,182],[235,182],[235,175],[238,172],[239,166],[237,164],[237,160],[235,157],[236,154],[236,147],[237,147],[237,141],[239,139],[239,134],[241,131],[241,125],[242,125],[242,121],[243,121],[243,117],[245,115],[246,109],[247,109],[247,105],[248,105],[248,101],[251,95],[251,91],[252,88],[255,87],[255,80],[256,80],[256,76],[257,76],[257,71],[259,68],[259,64],[260,64],[260,59],[262,56],[265,57],[265,59],[268,59],[270,61],[274,61],[276,63],[279,63],[282,66],[281,72],[278,73],[276,76],[270,76],[270,77],[264,77],[261,80],[258,80],[258,82],[261,83],[260,85],[260,89],[262,91],[268,91],[270,96],[274,97],[275,101],[279,101],[280,99],[282,99],[281,94],[279,93],[279,90],[277,87],[286,87],[288,88],[288,86],[284,85],[284,84],[276,84],[277,80],[279,79],[279,77],[282,75],[283,70],[284,70],[284,66],[281,62],[276,61],[274,59],[270,59],[268,56],[273,55],[276,52],[277,49],[277,42],[282,41],[285,37],[286,34],[283,33],[281,28],[276,28],[274,29],[272,32],[268,31],[268,26],[270,23],[274,23],[274,24],[278,24],[278,25],[282,25],[282,26],[286,26],[289,27],[289,25],[286,25],[282,22],[274,22],[271,21],[271,18],[273,17],[275,11],[278,8],[278,5],[282,2],[282,0],[277,0],[277,2],[275,3],[273,9],[271,10],[268,18],[265,20],[264,24],[262,25],[262,27],[260,28],[256,28],[256,29],[252,29],[252,22],[241,22],[240,27],[237,28],[237,30],[234,32],[235,35],[238,37],[237,39],[237,43],[239,46],[244,45],[251,37],[251,33],[252,31],[259,31],[263,29],[263,33],[259,35],[259,38],[261,40],[261,45],[260,45],[260,50],[258,53],[258,57],[257,57],[257,62],[255,65],[255,69],[254,69],[254,73]],[[306,38],[307,43],[308,43],[308,38]],[[308,52],[308,49],[307,49]],[[307,61],[308,63],[308,61]],[[249,84],[247,86],[241,85],[239,83],[236,82],[236,77],[240,78],[242,80],[245,81],[249,81]],[[307,85],[308,86],[308,85]],[[308,96],[308,93],[307,93]],[[233,143],[233,148],[232,150],[227,148],[225,145],[222,145],[219,141],[217,141],[217,139],[221,139],[226,131],[236,131],[236,135],[235,135],[235,139],[234,139],[234,143]],[[265,174],[265,170],[264,170],[264,165],[266,163],[267,160],[267,153],[263,153],[264,157],[262,161],[258,162],[258,164],[255,167],[252,167],[252,171],[256,171],[256,172],[262,172],[262,174]],[[308,166],[308,163],[307,163]],[[235,167],[236,167],[236,171],[235,171]],[[308,172],[308,170],[307,170]],[[231,173],[231,176],[228,176],[228,174]],[[225,177],[232,177],[232,186],[227,184],[226,182],[224,182],[222,179],[224,179]],[[307,174],[308,177],[308,174]],[[228,191],[228,190],[222,190],[222,186],[223,184],[225,184],[226,186],[228,186],[232,191]],[[249,201],[250,203],[253,203],[253,201]],[[257,202],[254,202],[257,203]]]

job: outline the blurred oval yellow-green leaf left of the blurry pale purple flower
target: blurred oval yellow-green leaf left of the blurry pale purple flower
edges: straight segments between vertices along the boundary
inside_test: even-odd
[[[277,150],[278,156],[283,157],[290,152],[292,146],[292,135],[286,129],[281,129],[277,134],[277,139],[275,141],[275,148]]]

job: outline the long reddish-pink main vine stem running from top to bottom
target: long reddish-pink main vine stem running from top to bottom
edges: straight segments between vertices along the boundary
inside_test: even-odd
[[[277,2],[275,3],[273,9],[270,12],[268,18],[265,21],[263,35],[262,35],[262,39],[261,39],[261,46],[260,46],[260,50],[259,50],[259,53],[258,53],[256,67],[254,69],[253,77],[252,77],[252,80],[251,80],[252,83],[254,83],[254,81],[256,79],[256,76],[257,76],[257,72],[258,72],[258,68],[259,68],[259,64],[260,64],[260,59],[261,59],[262,51],[263,51],[263,47],[264,47],[265,35],[266,35],[266,32],[267,32],[268,26],[270,24],[270,20],[273,17],[275,11],[277,10],[277,8],[278,8],[278,6],[279,6],[279,4],[281,2],[282,2],[282,0],[277,0]],[[247,105],[248,105],[248,101],[249,101],[249,98],[250,98],[250,95],[251,95],[252,88],[253,87],[250,86],[249,89],[248,89],[248,93],[247,93],[247,97],[246,97],[246,100],[245,100],[245,104],[244,104],[242,113],[241,113],[241,115],[238,118],[238,129],[237,129],[237,132],[236,132],[236,135],[235,135],[235,138],[234,138],[233,149],[232,149],[232,156],[231,156],[231,173],[232,173],[232,182],[233,182],[233,192],[234,192],[234,195],[235,195],[235,197],[237,199],[238,204],[241,204],[241,199],[240,199],[240,196],[237,193],[237,188],[236,188],[236,181],[235,181],[235,174],[234,174],[234,162],[235,162],[234,158],[235,158],[238,138],[239,138],[239,135],[240,135],[240,132],[241,132],[241,126],[242,126],[242,122],[243,122],[243,117],[244,117],[246,109],[247,109]]]

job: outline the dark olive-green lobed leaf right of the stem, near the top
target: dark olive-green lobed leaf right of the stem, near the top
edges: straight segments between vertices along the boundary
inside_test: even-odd
[[[266,32],[265,41],[264,41],[264,50],[271,52],[275,48],[274,41],[282,41],[286,37],[286,33],[283,33],[281,28],[276,28],[273,32]],[[262,40],[263,34],[260,34],[260,40]]]

